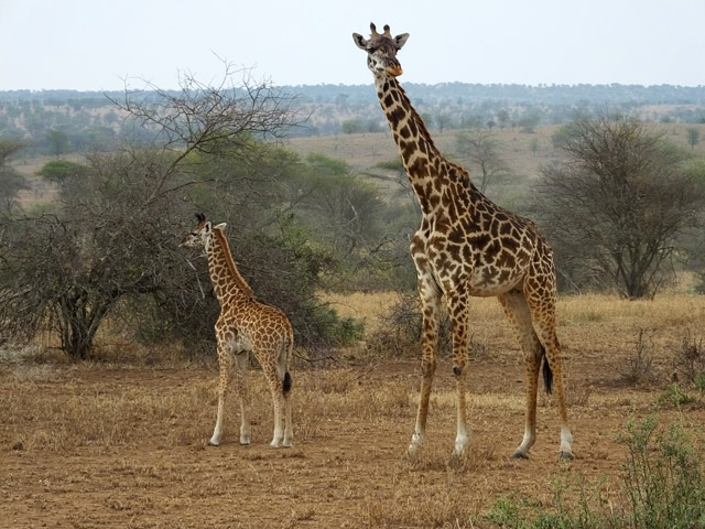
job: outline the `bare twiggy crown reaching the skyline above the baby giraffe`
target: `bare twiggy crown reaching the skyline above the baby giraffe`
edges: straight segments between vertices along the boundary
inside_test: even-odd
[[[235,83],[240,76],[240,84]],[[227,149],[239,155],[260,155],[261,144],[252,140],[282,138],[301,123],[302,117],[290,107],[292,96],[268,82],[257,82],[249,69],[232,71],[225,64],[225,75],[217,86],[184,76],[181,90],[172,93],[151,84],[130,91],[122,100],[110,99],[127,112],[169,163],[152,183],[148,202],[169,191],[167,183],[176,170],[183,171],[192,153],[214,154]],[[148,137],[149,138],[149,137]]]

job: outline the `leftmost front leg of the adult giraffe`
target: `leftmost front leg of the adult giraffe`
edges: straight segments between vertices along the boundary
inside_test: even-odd
[[[421,334],[421,391],[419,395],[419,410],[416,424],[411,436],[409,453],[414,454],[421,446],[426,431],[429,417],[429,400],[433,386],[433,375],[436,370],[436,349],[438,346],[438,326],[441,321],[441,300],[437,291],[424,287],[420,281],[420,294],[423,311],[423,327]]]

